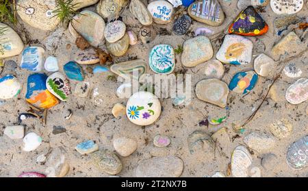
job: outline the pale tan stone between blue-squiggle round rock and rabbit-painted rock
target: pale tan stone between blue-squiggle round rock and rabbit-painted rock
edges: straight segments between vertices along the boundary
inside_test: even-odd
[[[183,66],[194,67],[210,60],[213,55],[214,51],[209,38],[197,36],[184,42],[181,62]]]

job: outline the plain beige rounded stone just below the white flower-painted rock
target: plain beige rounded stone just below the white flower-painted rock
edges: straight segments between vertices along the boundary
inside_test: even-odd
[[[123,157],[128,157],[131,155],[138,147],[136,140],[125,137],[115,138],[112,143],[114,145],[114,149],[116,149],[116,152]]]

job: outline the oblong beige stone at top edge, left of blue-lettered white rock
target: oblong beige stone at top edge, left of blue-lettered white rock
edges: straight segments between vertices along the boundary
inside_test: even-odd
[[[131,0],[131,3],[129,4],[129,11],[142,25],[152,25],[152,15],[140,0]]]

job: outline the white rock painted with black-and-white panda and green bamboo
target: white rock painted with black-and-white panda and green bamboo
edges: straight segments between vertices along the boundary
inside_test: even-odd
[[[46,86],[49,92],[61,101],[67,101],[72,93],[70,91],[70,82],[62,73],[53,73],[46,81]]]

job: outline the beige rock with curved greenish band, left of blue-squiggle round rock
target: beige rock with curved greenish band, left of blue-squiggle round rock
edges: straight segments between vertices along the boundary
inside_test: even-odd
[[[131,60],[113,64],[110,71],[124,79],[139,79],[141,75],[146,73],[146,62],[143,60]]]

